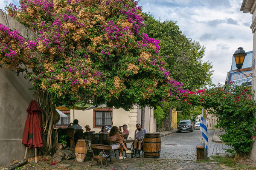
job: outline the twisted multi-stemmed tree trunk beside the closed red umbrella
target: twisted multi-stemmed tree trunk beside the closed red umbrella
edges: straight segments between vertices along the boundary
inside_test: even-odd
[[[53,128],[53,112],[54,104],[51,101],[51,95],[47,92],[38,92],[37,102],[42,113],[42,126],[43,126],[43,142],[44,146],[39,150],[43,155],[53,155],[55,150],[57,150],[58,145],[58,134],[57,130]]]

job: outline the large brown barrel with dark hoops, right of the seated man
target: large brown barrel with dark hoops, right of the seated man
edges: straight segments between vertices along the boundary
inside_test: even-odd
[[[160,133],[146,133],[143,141],[145,158],[159,158],[161,151]]]

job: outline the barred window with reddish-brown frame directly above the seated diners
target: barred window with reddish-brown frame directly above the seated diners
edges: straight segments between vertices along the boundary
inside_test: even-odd
[[[93,109],[93,128],[112,126],[112,108]]]

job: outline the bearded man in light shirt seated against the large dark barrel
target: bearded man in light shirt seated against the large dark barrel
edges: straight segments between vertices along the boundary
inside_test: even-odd
[[[143,139],[145,136],[145,133],[148,133],[147,130],[141,128],[140,123],[137,123],[134,135],[134,153],[137,154],[137,158],[140,158],[140,149],[141,145],[143,144]],[[138,146],[137,146],[138,145]],[[138,147],[138,149],[137,149]]]

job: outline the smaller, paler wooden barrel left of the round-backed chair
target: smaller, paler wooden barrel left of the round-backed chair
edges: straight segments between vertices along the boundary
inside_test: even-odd
[[[85,159],[87,153],[87,146],[84,139],[79,139],[76,142],[75,155],[78,162],[82,162]]]

